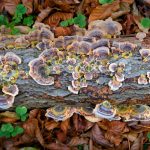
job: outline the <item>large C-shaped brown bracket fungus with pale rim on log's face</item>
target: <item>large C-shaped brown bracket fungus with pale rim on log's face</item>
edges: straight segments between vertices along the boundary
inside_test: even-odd
[[[36,58],[29,63],[29,75],[40,85],[53,85],[54,77],[50,76],[50,70],[41,58]]]

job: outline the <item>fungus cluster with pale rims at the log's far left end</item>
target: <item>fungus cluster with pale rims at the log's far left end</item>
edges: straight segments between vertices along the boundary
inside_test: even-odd
[[[19,64],[21,64],[21,59],[12,52],[7,52],[4,56],[0,56],[1,109],[11,107],[15,96],[18,95],[19,89],[15,83],[19,77]]]

